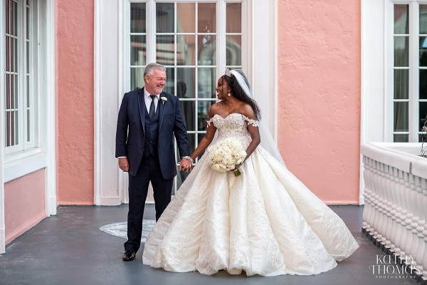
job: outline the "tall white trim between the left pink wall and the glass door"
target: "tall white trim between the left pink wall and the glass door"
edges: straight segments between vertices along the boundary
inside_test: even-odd
[[[94,203],[118,205],[123,201],[117,159],[115,128],[122,90],[122,7],[127,0],[95,0],[94,16]]]

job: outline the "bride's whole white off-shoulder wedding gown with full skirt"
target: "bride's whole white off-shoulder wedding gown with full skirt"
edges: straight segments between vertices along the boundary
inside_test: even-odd
[[[214,115],[218,140],[246,149],[246,116]],[[262,138],[261,138],[262,140]],[[179,188],[144,245],[143,262],[167,271],[319,274],[359,245],[341,218],[263,147],[233,171],[216,172],[205,154]]]

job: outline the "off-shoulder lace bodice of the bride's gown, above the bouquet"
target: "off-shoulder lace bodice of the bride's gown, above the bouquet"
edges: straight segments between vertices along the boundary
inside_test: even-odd
[[[258,127],[258,120],[252,120],[241,113],[231,113],[226,118],[215,114],[207,123],[208,127],[211,123],[214,123],[218,130],[218,140],[230,137],[247,140],[250,138],[248,124]]]

